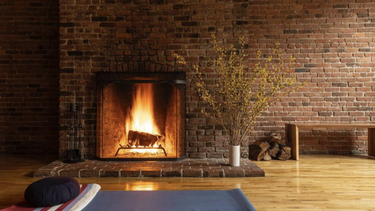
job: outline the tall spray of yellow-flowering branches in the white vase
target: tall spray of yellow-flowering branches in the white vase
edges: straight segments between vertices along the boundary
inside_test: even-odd
[[[290,56],[285,63],[277,42],[265,58],[257,51],[255,64],[250,71],[245,71],[243,37],[240,38],[239,49],[234,45],[220,46],[213,34],[212,40],[217,56],[209,62],[218,74],[215,88],[209,88],[204,83],[203,72],[198,66],[188,66],[181,55],[174,53],[173,56],[177,63],[194,72],[197,93],[212,108],[210,112],[203,108],[201,111],[222,125],[230,145],[239,145],[270,103],[296,91],[305,82],[298,82],[296,75],[290,76],[294,58]]]

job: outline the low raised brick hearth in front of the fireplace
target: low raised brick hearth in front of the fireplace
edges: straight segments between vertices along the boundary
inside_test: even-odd
[[[227,159],[184,159],[182,161],[98,161],[81,163],[54,161],[34,171],[34,177],[254,177],[264,176],[264,171],[249,159],[240,166],[227,165]]]

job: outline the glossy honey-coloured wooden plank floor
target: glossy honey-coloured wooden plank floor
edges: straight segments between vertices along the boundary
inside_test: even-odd
[[[23,198],[32,170],[54,157],[0,155],[0,208]],[[375,210],[375,159],[363,155],[301,155],[300,160],[255,161],[256,178],[78,178],[102,190],[241,188],[261,210]]]

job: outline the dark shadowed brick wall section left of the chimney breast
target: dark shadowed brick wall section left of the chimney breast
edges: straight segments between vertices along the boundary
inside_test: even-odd
[[[57,153],[58,71],[57,0],[0,0],[0,153]]]

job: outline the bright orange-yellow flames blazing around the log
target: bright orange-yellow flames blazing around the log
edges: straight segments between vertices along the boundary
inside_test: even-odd
[[[155,135],[159,135],[160,131],[154,120],[153,111],[153,89],[151,83],[137,83],[134,86],[135,91],[133,95],[132,106],[128,110],[128,115],[125,120],[126,134],[129,134],[129,130],[138,132],[147,132]],[[126,136],[127,142],[127,136]],[[156,153],[158,149],[147,149],[138,146],[131,149],[133,153]],[[157,142],[152,147],[158,147]]]

